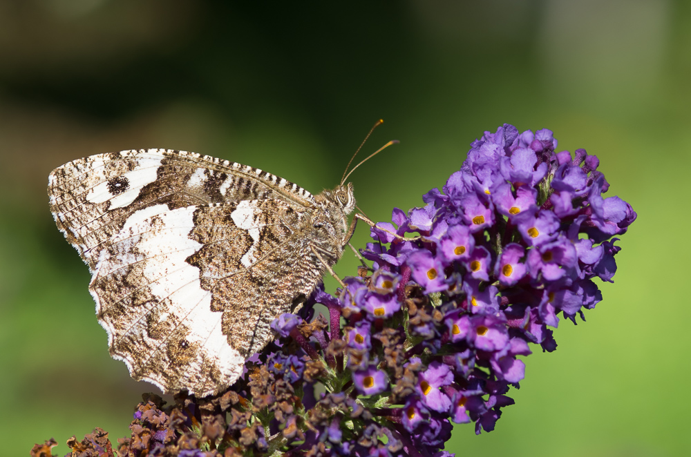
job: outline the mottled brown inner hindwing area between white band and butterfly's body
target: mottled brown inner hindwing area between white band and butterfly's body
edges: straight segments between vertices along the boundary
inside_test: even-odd
[[[310,249],[312,214],[280,200],[247,200],[231,213],[216,206],[195,217],[190,237],[203,246],[187,262],[200,269],[211,310],[223,311],[223,333],[246,358],[269,342],[271,321],[321,281],[325,266]],[[228,231],[233,226],[243,229],[241,242]]]

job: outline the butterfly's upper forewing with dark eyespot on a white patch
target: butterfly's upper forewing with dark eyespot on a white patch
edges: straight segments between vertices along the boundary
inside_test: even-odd
[[[75,160],[50,173],[48,195],[55,222],[92,270],[103,243],[133,213],[155,204],[175,209],[271,198],[314,204],[305,189],[258,168],[164,149]]]

